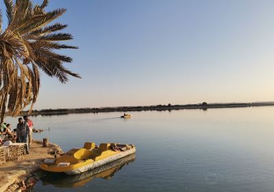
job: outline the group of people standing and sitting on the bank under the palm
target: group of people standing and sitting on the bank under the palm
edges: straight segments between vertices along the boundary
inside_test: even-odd
[[[32,145],[32,129],[34,123],[27,117],[27,115],[25,115],[23,119],[21,117],[18,118],[16,130],[14,130],[16,134],[12,132],[11,125],[7,123],[3,123],[1,126],[1,134],[3,136],[11,136],[17,143],[26,143],[27,145],[25,145],[25,150],[26,153],[29,154],[29,147]],[[2,143],[1,137],[0,143]]]

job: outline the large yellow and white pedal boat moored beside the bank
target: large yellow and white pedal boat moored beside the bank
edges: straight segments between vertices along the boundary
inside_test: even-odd
[[[134,145],[116,143],[85,143],[81,149],[71,149],[60,158],[45,159],[40,168],[50,172],[64,172],[68,175],[84,173],[101,167],[136,152]]]

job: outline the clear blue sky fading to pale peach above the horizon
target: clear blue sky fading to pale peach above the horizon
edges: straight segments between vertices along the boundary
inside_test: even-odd
[[[274,101],[272,0],[51,0],[47,10],[61,7],[79,47],[61,53],[82,79],[41,73],[35,109]]]

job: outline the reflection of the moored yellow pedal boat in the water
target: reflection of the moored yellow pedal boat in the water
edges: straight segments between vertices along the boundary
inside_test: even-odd
[[[136,154],[131,154],[129,156],[126,156],[125,158],[121,158],[112,163],[108,163],[107,165],[103,165],[101,167],[97,167],[90,171],[86,171],[84,173],[74,176],[69,176],[65,173],[45,172],[45,176],[41,179],[42,185],[47,186],[49,184],[53,184],[55,187],[59,188],[71,188],[82,187],[95,178],[110,180],[114,176],[114,173],[120,171],[125,165],[133,163],[135,158]]]

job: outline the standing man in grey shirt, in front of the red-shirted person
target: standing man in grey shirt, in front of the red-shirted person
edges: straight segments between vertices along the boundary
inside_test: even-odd
[[[25,145],[25,149],[27,154],[29,154],[29,125],[27,124],[27,121],[23,121],[21,117],[18,119],[16,134],[18,135],[20,143],[27,144]]]

